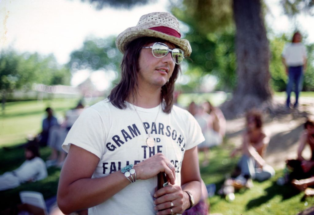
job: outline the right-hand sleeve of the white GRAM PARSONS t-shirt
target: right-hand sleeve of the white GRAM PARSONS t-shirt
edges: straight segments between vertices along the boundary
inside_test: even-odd
[[[190,113],[188,113],[188,122],[189,129],[186,150],[197,146],[205,140],[201,127],[199,126],[194,116],[192,116]]]

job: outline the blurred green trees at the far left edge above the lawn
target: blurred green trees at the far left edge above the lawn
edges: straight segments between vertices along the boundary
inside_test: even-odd
[[[29,90],[33,83],[69,84],[70,78],[69,69],[58,65],[53,55],[43,57],[38,53],[19,54],[14,50],[0,52],[0,91],[3,104],[8,92],[16,89]]]

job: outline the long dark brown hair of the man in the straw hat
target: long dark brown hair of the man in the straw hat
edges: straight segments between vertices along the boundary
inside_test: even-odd
[[[160,38],[155,37],[141,37],[133,40],[127,45],[127,49],[123,55],[121,63],[121,80],[112,90],[108,96],[108,99],[115,107],[119,109],[125,109],[126,99],[130,95],[136,97],[138,90],[137,73],[139,71],[138,58],[141,48],[153,42],[166,42]],[[173,105],[173,91],[176,79],[181,71],[180,65],[175,65],[173,73],[170,79],[161,87],[161,99],[165,100],[165,105],[162,105],[162,109],[165,113],[170,113]]]

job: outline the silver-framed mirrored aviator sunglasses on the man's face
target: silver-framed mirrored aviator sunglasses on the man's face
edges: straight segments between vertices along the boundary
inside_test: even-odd
[[[180,64],[184,59],[184,52],[181,49],[175,48],[170,49],[166,44],[164,43],[154,43],[153,46],[148,47],[142,47],[144,49],[151,48],[152,53],[154,57],[160,58],[166,56],[169,52],[171,52],[172,59],[176,64]]]

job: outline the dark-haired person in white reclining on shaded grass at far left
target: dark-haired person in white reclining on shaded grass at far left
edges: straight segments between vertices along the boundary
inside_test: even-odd
[[[0,175],[0,191],[13,189],[26,182],[34,182],[47,177],[45,162],[40,158],[38,144],[35,141],[25,145],[25,161],[17,169]]]

